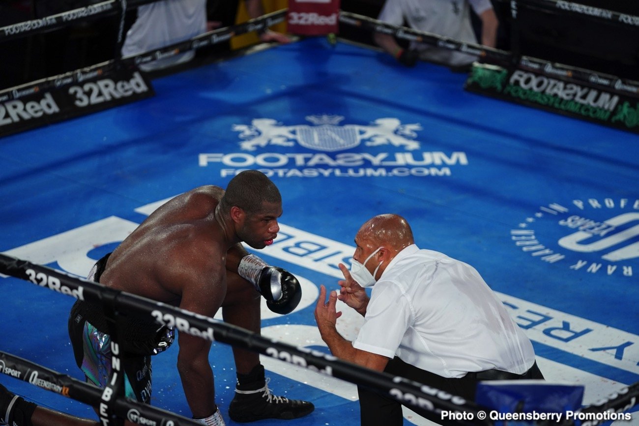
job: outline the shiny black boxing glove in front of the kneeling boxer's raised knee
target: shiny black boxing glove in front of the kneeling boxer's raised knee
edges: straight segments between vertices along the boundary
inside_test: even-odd
[[[268,309],[280,315],[293,312],[302,299],[300,281],[291,272],[267,266],[259,273],[258,290]]]

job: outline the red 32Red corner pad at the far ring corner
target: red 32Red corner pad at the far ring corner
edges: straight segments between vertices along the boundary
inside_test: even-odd
[[[339,0],[291,0],[288,4],[288,31],[299,35],[337,33]]]

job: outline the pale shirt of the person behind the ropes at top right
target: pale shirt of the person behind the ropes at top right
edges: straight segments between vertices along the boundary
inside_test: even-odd
[[[493,8],[490,0],[386,0],[378,19],[397,26],[404,25],[405,19],[411,28],[461,42],[477,43],[469,4],[477,15]],[[449,65],[463,65],[477,59],[462,52],[436,49],[424,43],[411,43],[411,47],[421,52],[422,59]]]

